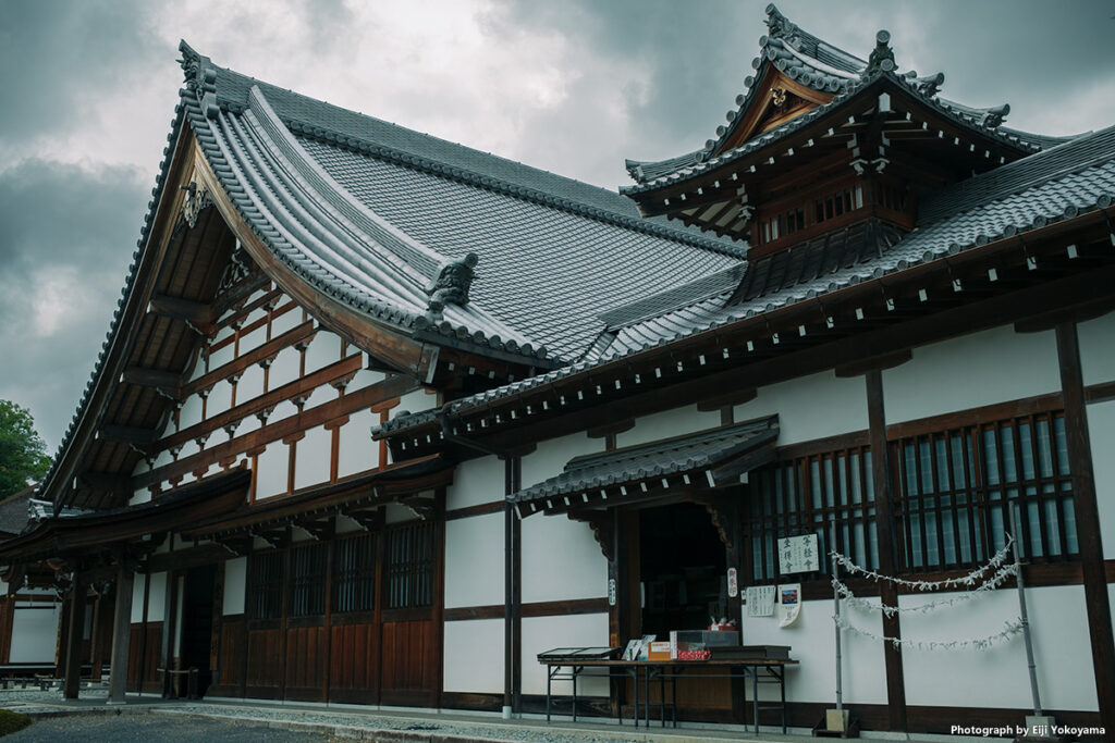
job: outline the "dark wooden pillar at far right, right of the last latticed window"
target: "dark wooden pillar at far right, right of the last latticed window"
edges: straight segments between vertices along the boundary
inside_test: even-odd
[[[1088,413],[1084,400],[1084,377],[1075,322],[1057,325],[1057,356],[1065,400],[1065,438],[1073,478],[1073,506],[1076,509],[1077,544],[1084,574],[1084,605],[1092,641],[1092,667],[1096,678],[1096,700],[1099,702],[1099,724],[1109,732],[1115,730],[1115,638],[1112,636],[1112,612],[1107,597],[1104,547],[1099,537],[1099,507],[1092,469],[1092,441],[1088,437]]]

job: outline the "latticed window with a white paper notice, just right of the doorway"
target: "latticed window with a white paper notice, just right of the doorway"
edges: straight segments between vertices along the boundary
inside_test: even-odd
[[[875,535],[875,493],[871,479],[871,451],[855,447],[801,457],[752,475],[744,531],[750,541],[752,579],[778,577],[777,540],[817,535],[821,570],[831,570],[824,557],[836,549],[864,567],[879,567]],[[808,576],[799,576],[806,578]]]

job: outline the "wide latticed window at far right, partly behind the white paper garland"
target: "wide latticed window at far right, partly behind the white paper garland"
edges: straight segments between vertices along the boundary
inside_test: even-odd
[[[1063,412],[900,439],[898,475],[906,569],[972,565],[1006,544],[1015,511],[1030,559],[1078,551]]]

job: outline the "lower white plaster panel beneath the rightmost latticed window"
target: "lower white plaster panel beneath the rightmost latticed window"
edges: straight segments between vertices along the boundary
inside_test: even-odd
[[[949,594],[901,596],[899,606],[919,606]],[[1082,586],[1029,588],[1026,592],[1043,706],[1096,711],[1092,648]],[[902,616],[902,636],[950,641],[987,637],[1018,617],[1018,594],[999,589],[952,607]],[[912,705],[1026,708],[1029,675],[1021,635],[990,649],[902,649],[906,703]],[[948,683],[942,683],[948,680]]]

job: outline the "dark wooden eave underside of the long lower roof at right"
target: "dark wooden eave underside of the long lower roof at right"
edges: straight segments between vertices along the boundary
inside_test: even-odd
[[[832,369],[852,375],[886,368],[910,349],[1002,324],[1040,330],[1098,316],[1115,310],[1108,218],[1090,213],[866,280],[471,407],[446,422],[457,437],[513,451],[700,403],[718,390],[750,390]],[[439,421],[377,438],[388,439],[396,460],[435,450],[478,456],[447,442]]]

